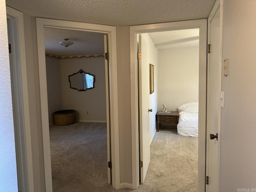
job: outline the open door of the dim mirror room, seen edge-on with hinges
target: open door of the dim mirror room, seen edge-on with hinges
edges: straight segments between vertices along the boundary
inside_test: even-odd
[[[109,64],[108,35],[104,35],[105,78],[106,78],[106,109],[107,109],[107,145],[108,145],[108,183],[112,182],[111,142],[110,142],[110,107],[109,107]]]

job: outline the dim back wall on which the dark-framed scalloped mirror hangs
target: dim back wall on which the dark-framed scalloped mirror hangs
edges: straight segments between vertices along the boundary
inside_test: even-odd
[[[68,76],[80,69],[95,76],[95,88],[82,92],[70,88]],[[62,109],[76,110],[78,122],[106,122],[104,58],[60,60],[60,71]]]

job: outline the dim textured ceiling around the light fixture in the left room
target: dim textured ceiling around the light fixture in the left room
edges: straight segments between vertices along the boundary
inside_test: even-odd
[[[69,47],[59,44],[64,38],[74,42]],[[83,54],[103,54],[104,34],[96,32],[86,32],[67,29],[44,28],[45,52],[66,56]]]

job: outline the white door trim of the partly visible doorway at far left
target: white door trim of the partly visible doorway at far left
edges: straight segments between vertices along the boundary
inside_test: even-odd
[[[24,21],[23,13],[6,6],[7,16],[14,18],[17,24],[16,35],[18,37],[18,55],[20,61],[20,76],[21,76],[21,90],[22,90],[22,111],[23,111],[23,127],[24,127],[24,141],[26,162],[24,162],[27,171],[28,190],[34,192],[34,177],[33,177],[33,164],[32,164],[32,146],[31,146],[31,133],[30,133],[30,114],[28,104],[28,81],[27,81],[27,68],[26,68],[26,52],[25,52],[25,34],[24,34]],[[17,149],[16,149],[17,150]],[[26,185],[26,183],[24,184]]]

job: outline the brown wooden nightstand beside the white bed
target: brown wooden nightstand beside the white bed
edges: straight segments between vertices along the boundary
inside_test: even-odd
[[[178,124],[179,122],[179,112],[178,111],[171,111],[170,113],[160,113],[156,114],[157,116],[157,130],[159,131],[159,127],[161,123],[166,124]]]

